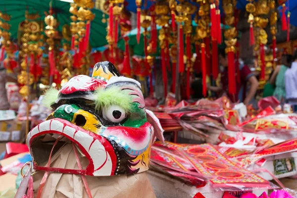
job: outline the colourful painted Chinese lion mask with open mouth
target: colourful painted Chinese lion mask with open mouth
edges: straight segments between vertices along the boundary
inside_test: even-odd
[[[92,77],[78,75],[59,91],[50,89],[44,104],[53,113],[27,137],[35,170],[89,176],[140,173],[148,170],[155,138],[163,140],[160,123],[146,110],[140,83],[120,76],[107,61],[94,66]],[[55,138],[55,148],[41,151],[39,145],[46,136]],[[40,165],[65,142],[74,143],[87,157],[85,169]]]

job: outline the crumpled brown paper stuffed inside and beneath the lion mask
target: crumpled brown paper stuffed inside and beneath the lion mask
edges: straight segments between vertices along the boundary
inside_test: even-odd
[[[81,156],[80,152],[78,154],[82,167],[86,167],[88,160],[86,157]],[[51,161],[51,167],[78,169],[71,144],[66,144],[58,150]],[[43,176],[44,171],[38,171],[34,175],[35,197]],[[93,198],[155,198],[146,172],[110,177],[85,177]],[[41,197],[88,198],[80,175],[53,172],[49,174]]]

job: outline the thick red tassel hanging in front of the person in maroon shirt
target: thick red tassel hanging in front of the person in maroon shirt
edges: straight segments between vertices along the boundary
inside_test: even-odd
[[[228,93],[230,95],[236,94],[235,81],[235,65],[234,65],[234,51],[228,52]]]

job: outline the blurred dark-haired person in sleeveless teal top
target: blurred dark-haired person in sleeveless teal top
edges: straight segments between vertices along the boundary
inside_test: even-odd
[[[283,54],[281,59],[282,64],[275,68],[269,79],[269,84],[275,85],[273,96],[281,103],[284,103],[286,100],[285,73],[291,65],[292,58],[290,54]]]

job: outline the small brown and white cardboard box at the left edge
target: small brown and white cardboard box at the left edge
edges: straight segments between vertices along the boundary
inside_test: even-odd
[[[17,120],[0,121],[0,142],[18,142],[21,137],[21,123]]]

